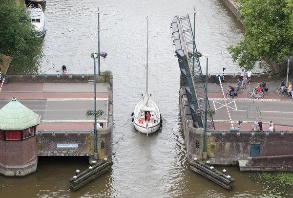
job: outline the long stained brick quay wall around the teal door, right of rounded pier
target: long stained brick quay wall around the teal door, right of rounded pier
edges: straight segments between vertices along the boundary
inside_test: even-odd
[[[237,164],[251,154],[251,144],[259,144],[262,157],[293,154],[293,133],[289,132],[209,132],[207,155],[213,164]],[[278,162],[278,161],[276,161]],[[278,164],[272,164],[278,166]]]

